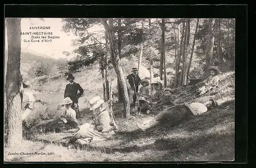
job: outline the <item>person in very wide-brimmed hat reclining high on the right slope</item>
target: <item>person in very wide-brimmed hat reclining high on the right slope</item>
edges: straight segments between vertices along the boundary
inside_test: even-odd
[[[203,83],[205,83],[204,86],[198,89],[196,97],[200,97],[207,91],[214,89],[219,83],[220,78],[218,75],[220,74],[220,70],[216,66],[208,66],[206,73],[209,74],[209,76],[203,81]]]

